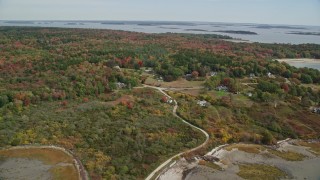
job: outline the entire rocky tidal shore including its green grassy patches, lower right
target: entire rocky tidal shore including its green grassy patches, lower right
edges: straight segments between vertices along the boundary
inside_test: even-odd
[[[255,174],[250,175],[249,179],[267,178],[263,172],[259,172],[261,166],[270,167],[270,172],[266,172],[270,177],[283,173],[285,175],[281,179],[320,179],[320,157],[310,147],[298,145],[297,142],[298,140],[287,140],[279,142],[277,146],[222,146],[199,159],[180,159],[162,173],[159,179],[247,179],[246,175],[250,173]],[[241,170],[245,165],[251,165],[251,169]],[[255,167],[257,168],[254,169]]]

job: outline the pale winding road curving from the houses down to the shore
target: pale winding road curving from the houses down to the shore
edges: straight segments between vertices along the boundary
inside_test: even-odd
[[[163,90],[165,90],[165,89],[170,89],[170,88],[160,88],[160,87],[149,86],[149,85],[143,85],[143,87],[144,87],[144,88],[148,87],[148,88],[157,89],[157,90],[160,91],[163,95],[165,95],[166,97],[172,99],[171,96],[169,96],[167,93],[165,93],[165,92],[163,91]],[[163,162],[160,166],[158,166],[152,173],[150,173],[149,176],[146,178],[146,180],[151,180],[152,177],[153,177],[157,172],[159,172],[163,167],[165,167],[166,165],[168,165],[174,158],[179,157],[179,156],[181,156],[182,154],[185,154],[185,153],[189,153],[189,152],[198,150],[198,149],[202,148],[203,146],[205,146],[205,145],[208,143],[208,141],[209,141],[209,134],[208,134],[206,131],[204,131],[203,129],[201,129],[201,128],[197,127],[197,126],[194,126],[194,125],[190,124],[189,122],[187,122],[186,120],[184,120],[183,118],[181,118],[181,117],[177,114],[178,103],[177,103],[176,100],[174,100],[174,104],[175,104],[175,105],[174,105],[174,107],[173,107],[172,114],[173,114],[175,117],[179,118],[183,123],[185,123],[185,124],[187,124],[187,125],[195,128],[195,129],[201,131],[201,132],[206,136],[206,140],[205,140],[201,145],[199,145],[198,147],[195,147],[195,148],[190,149],[190,150],[188,150],[188,151],[184,151],[184,152],[181,152],[181,153],[179,153],[179,154],[176,154],[176,155],[172,156],[172,157],[169,158],[167,161]],[[156,179],[157,179],[157,178],[156,178]]]

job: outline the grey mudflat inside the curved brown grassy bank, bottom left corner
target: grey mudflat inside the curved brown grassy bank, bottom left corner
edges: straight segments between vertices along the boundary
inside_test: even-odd
[[[0,179],[52,179],[51,167],[38,160],[10,158],[0,161]]]

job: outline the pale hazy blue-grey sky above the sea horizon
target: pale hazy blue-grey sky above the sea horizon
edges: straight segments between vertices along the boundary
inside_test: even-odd
[[[320,0],[0,0],[1,20],[170,20],[320,26]]]

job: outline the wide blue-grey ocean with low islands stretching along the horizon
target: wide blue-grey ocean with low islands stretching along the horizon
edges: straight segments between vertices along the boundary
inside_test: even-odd
[[[145,33],[221,34],[260,43],[320,44],[320,26],[159,21],[0,21],[0,26],[112,29]],[[230,34],[221,31],[248,31],[256,33],[256,35]]]

